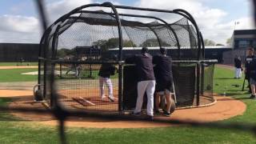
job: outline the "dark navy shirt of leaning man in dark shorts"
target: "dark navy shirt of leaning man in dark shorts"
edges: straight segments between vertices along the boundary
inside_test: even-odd
[[[166,83],[172,82],[173,74],[172,74],[172,62],[171,58],[166,55],[156,55],[153,58],[154,66],[154,76],[156,78],[157,83]]]

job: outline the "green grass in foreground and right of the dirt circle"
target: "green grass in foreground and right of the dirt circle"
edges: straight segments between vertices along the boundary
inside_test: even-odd
[[[245,102],[247,109],[242,116],[219,123],[255,123],[256,101],[246,99],[249,97],[248,94],[240,91],[242,79],[234,79],[233,77],[233,71],[217,68],[214,74],[214,85],[216,85],[214,92],[222,94],[226,90],[226,94],[230,97],[239,98]],[[234,84],[240,86],[232,86]],[[0,101],[0,104],[3,105],[6,102],[8,99]],[[256,143],[255,135],[249,132],[190,126],[150,129],[68,128],[66,134],[70,143]],[[58,142],[58,130],[55,127],[39,126],[33,122],[14,122],[11,119],[0,121],[0,135],[0,142],[6,143]]]

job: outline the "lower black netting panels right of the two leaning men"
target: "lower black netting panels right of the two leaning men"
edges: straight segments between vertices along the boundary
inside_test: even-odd
[[[199,75],[198,69],[202,70]],[[175,62],[173,74],[178,107],[207,106],[214,102],[213,63],[203,63],[198,67],[196,63]],[[199,93],[197,93],[197,77],[200,79]]]

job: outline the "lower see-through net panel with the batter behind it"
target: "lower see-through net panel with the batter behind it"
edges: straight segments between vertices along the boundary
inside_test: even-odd
[[[110,78],[102,78],[98,74],[103,65],[106,66],[76,63],[55,66],[54,86],[62,106],[67,109],[118,112],[118,66],[107,64],[113,67],[114,74]]]

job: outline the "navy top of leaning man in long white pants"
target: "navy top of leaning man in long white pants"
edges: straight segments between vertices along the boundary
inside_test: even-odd
[[[152,56],[150,54],[138,54],[127,58],[126,63],[134,63],[138,81],[154,80]]]

